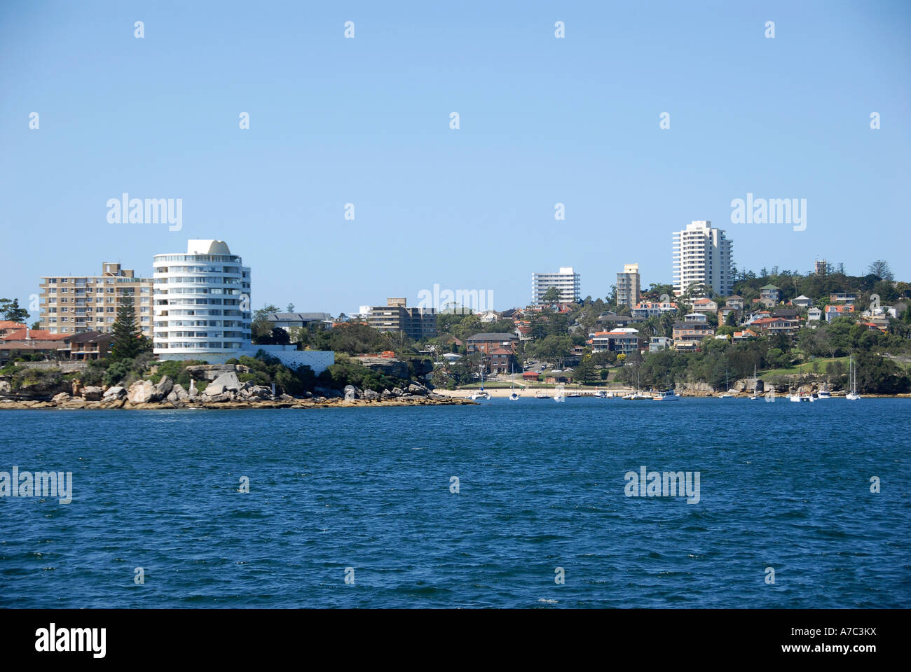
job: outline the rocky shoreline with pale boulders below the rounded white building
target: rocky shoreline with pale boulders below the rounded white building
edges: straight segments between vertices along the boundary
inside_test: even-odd
[[[317,387],[313,392],[295,397],[273,394],[271,387],[253,382],[240,382],[234,371],[219,372],[202,392],[190,382],[189,390],[168,376],[159,382],[137,381],[128,388],[112,385],[107,389],[93,385],[73,384],[72,392],[42,396],[28,389],[0,393],[0,410],[4,409],[240,409],[240,408],[344,408],[356,406],[433,406],[475,404],[467,399],[454,399],[437,394],[419,382],[406,388],[383,392],[359,390],[352,385],[343,391]]]

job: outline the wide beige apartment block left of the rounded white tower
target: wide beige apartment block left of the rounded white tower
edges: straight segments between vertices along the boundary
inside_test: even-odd
[[[100,275],[41,278],[41,329],[50,333],[110,333],[120,300],[133,298],[136,325],[152,337],[152,280],[137,278],[120,264],[103,263]]]

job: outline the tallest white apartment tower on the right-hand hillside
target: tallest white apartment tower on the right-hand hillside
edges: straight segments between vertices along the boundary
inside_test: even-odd
[[[712,229],[711,221],[694,221],[674,231],[673,241],[674,294],[702,284],[721,296],[732,295],[732,241],[722,229]]]

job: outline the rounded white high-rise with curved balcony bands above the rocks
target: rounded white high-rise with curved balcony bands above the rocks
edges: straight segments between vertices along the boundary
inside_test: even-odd
[[[152,265],[159,360],[214,363],[251,348],[250,268],[227,243],[188,240],[186,254],[157,254]]]

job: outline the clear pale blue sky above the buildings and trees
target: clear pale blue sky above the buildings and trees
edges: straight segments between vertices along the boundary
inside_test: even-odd
[[[693,219],[741,268],[911,280],[909,35],[906,2],[5,3],[0,296],[216,238],[254,308],[436,283],[505,309],[559,266],[583,295],[624,263],[670,282]],[[108,224],[125,191],[183,228]],[[732,224],[748,192],[807,199],[806,229]]]

